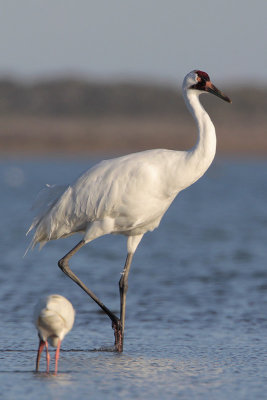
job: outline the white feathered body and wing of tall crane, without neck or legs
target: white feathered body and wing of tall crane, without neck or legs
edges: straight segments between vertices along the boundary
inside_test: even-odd
[[[29,248],[86,232],[90,224],[107,219],[113,229],[102,234],[155,229],[179,191],[172,168],[176,159],[171,150],[148,150],[102,161],[72,185],[47,186],[36,202]]]

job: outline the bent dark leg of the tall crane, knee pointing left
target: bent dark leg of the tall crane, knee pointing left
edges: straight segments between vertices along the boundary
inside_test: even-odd
[[[69,267],[69,259],[77,253],[77,251],[85,245],[85,241],[81,240],[70,252],[68,252],[63,258],[61,258],[58,262],[59,268],[69,277],[71,278],[77,285],[79,285],[98,305],[102,310],[109,316],[112,322],[112,328],[114,329],[115,335],[115,348],[117,351],[122,351],[122,331],[121,331],[121,321],[119,318],[110,311],[99,299],[98,297],[90,290],[87,286],[72,272]]]

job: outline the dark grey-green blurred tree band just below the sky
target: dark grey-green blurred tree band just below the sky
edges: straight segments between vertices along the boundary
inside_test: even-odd
[[[267,88],[231,88],[236,113],[267,110]],[[220,104],[209,105],[216,112]],[[59,79],[33,84],[0,80],[0,114],[39,116],[144,116],[185,112],[174,87],[130,83],[90,83]]]

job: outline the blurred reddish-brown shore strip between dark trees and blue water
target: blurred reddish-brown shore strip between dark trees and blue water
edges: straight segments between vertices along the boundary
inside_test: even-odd
[[[217,152],[222,155],[267,155],[264,121],[239,118],[214,121]],[[0,154],[102,155],[151,148],[186,150],[196,141],[194,122],[183,118],[51,118],[0,119]]]

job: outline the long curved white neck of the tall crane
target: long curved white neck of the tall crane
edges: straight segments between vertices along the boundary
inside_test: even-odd
[[[198,127],[198,140],[196,145],[188,152],[188,162],[195,171],[196,179],[200,178],[209,168],[216,152],[215,127],[207,112],[199,101],[198,92],[184,90],[186,105],[193,115]]]

